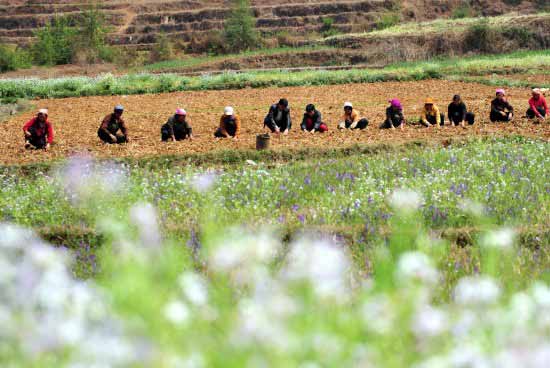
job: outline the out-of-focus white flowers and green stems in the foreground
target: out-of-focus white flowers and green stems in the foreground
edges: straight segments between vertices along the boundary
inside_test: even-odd
[[[75,203],[90,200],[67,172]],[[208,208],[205,175],[190,186]],[[392,235],[368,272],[335,237],[219,229],[207,210],[181,246],[138,203],[103,223],[101,270],[79,280],[70,252],[1,224],[0,365],[548,367],[550,289],[514,282],[513,230],[487,230],[478,271],[450,283],[447,248],[415,222],[421,196],[387,200]]]

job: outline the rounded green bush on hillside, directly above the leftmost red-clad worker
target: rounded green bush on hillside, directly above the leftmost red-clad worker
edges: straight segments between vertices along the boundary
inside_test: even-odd
[[[32,46],[35,63],[39,65],[68,64],[75,55],[77,32],[68,17],[53,18],[44,28],[35,32]]]

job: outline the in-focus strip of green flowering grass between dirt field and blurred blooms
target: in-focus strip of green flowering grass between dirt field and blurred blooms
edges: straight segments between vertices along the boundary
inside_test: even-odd
[[[298,158],[289,152],[279,154],[279,161],[268,154],[230,159],[225,154],[219,157],[225,161],[210,162],[214,168],[233,162],[224,166],[211,196],[216,199],[221,222],[231,219],[289,228],[361,228],[368,224],[379,234],[392,214],[385,200],[388,190],[404,187],[425,193],[422,218],[433,229],[475,227],[477,224],[460,210],[466,198],[483,204],[501,225],[537,228],[548,225],[550,218],[550,207],[545,205],[550,204],[547,146],[517,137],[455,142],[451,149],[410,145],[367,151],[356,147],[338,152],[310,151],[310,157],[302,152]],[[280,166],[285,157],[287,164]],[[325,157],[331,159],[323,160]],[[252,158],[259,166],[246,163]],[[72,196],[61,189],[65,184],[52,182],[51,175],[62,163],[27,169],[6,167],[0,171],[0,219],[37,228],[95,229],[98,213],[123,217],[132,203],[150,201],[166,219],[167,229],[188,229],[193,219],[201,217],[200,197],[189,189],[190,178],[197,172],[188,166],[191,162],[190,158],[177,157],[122,161],[122,166],[107,162],[106,172],[92,176],[91,184],[79,185],[111,185],[109,178],[121,177],[128,181],[122,191],[112,188],[116,191],[112,198],[100,200],[98,196],[92,208],[73,206]],[[71,173],[70,180],[80,175]],[[81,189],[71,188],[71,193],[80,193]],[[44,208],[47,216],[43,216]]]

